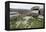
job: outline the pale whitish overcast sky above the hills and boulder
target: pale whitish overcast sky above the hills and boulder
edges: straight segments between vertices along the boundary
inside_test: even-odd
[[[40,4],[10,3],[10,8],[13,9],[31,9],[33,6],[39,6],[40,8],[43,8],[43,5]]]

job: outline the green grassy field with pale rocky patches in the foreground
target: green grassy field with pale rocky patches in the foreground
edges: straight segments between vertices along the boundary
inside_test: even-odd
[[[32,16],[16,16],[10,19],[10,29],[43,27],[43,19]]]

